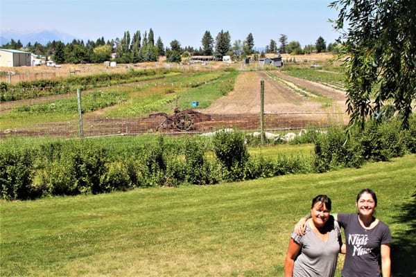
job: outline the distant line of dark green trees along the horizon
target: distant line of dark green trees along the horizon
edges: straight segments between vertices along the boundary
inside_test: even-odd
[[[279,38],[280,45],[277,46],[275,40],[270,39],[270,44],[262,51],[254,49],[254,37],[249,33],[243,41],[236,39],[232,42],[231,35],[228,31],[220,30],[215,39],[206,30],[201,39],[199,48],[191,46],[182,47],[177,39],[170,42],[169,46],[164,46],[161,37],[155,39],[152,28],[141,33],[137,30],[130,34],[125,31],[123,37],[105,41],[104,37],[88,40],[86,43],[80,39],[73,39],[71,43],[64,44],[61,41],[48,42],[42,45],[38,42],[31,44],[29,42],[24,46],[20,39],[15,41],[11,39],[1,48],[18,49],[34,53],[35,55],[50,57],[57,64],[85,64],[85,63],[102,63],[114,60],[119,63],[137,63],[137,62],[157,62],[159,57],[166,57],[167,62],[181,62],[182,57],[190,55],[212,55],[216,60],[222,60],[224,55],[232,56],[232,60],[242,60],[245,57],[264,57],[266,53],[292,53],[304,54],[312,52],[334,51],[336,44],[328,44],[322,37],[319,37],[315,44],[301,48],[299,42],[288,42],[286,35]]]

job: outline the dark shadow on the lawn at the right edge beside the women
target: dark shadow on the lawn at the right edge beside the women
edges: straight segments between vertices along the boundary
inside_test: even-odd
[[[395,223],[403,227],[392,238],[392,276],[416,276],[416,195],[397,208],[401,213]]]

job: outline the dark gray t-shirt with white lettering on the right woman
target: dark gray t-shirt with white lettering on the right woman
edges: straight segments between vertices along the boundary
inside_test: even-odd
[[[356,213],[338,213],[337,216],[347,244],[343,277],[380,276],[381,244],[392,242],[388,226],[379,221],[373,229],[367,230],[358,222]]]

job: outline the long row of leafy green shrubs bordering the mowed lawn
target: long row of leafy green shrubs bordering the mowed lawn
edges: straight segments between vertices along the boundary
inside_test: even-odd
[[[277,175],[359,168],[367,161],[388,161],[416,153],[416,120],[400,130],[392,120],[369,122],[363,132],[333,127],[326,134],[308,132],[293,143],[314,143],[313,158],[253,158],[248,145],[258,143],[234,130],[207,139],[185,137],[176,144],[164,136],[114,154],[94,140],[51,141],[29,146],[3,141],[0,148],[2,199],[109,193],[148,186],[208,185]],[[272,143],[271,141],[269,143]],[[22,146],[23,145],[23,146]],[[25,146],[26,145],[26,146]]]

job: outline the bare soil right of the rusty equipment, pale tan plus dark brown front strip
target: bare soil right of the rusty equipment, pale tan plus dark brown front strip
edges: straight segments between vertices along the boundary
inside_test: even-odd
[[[345,93],[323,84],[310,82],[272,71],[278,78],[286,80],[284,84],[270,78],[264,71],[242,72],[236,80],[234,91],[216,100],[209,108],[202,109],[205,114],[211,114],[211,125],[232,126],[241,129],[259,129],[260,127],[260,91],[261,80],[264,81],[267,129],[298,129],[308,125],[327,126],[335,121],[347,124],[348,118],[344,111]],[[332,104],[324,107],[317,102],[294,91],[291,86],[316,91],[331,99]],[[339,113],[339,114],[338,114]]]

